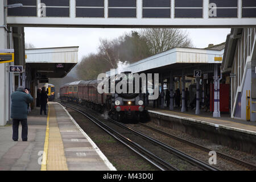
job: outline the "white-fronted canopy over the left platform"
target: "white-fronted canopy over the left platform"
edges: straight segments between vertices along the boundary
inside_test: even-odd
[[[26,65],[37,78],[63,78],[77,64],[78,50],[79,47],[26,49]]]

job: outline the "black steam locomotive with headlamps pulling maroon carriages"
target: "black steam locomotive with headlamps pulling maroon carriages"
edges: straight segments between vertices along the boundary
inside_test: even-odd
[[[127,76],[129,73],[125,72]],[[115,80],[116,83],[118,81],[120,80]],[[122,121],[124,118],[135,118],[140,121],[145,116],[143,93],[100,94],[97,90],[98,84],[97,80],[80,80],[64,84],[60,86],[60,99],[86,105],[94,110],[106,110],[110,117],[117,121]]]

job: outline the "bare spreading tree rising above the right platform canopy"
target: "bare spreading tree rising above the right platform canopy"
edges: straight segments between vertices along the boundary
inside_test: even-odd
[[[151,55],[174,47],[193,47],[188,33],[178,28],[144,28],[140,34],[146,39]]]

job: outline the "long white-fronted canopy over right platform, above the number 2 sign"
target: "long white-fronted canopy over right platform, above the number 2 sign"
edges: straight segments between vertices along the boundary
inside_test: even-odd
[[[122,72],[163,73],[172,71],[175,76],[181,75],[181,70],[186,68],[191,69],[188,70],[189,73],[193,73],[194,68],[203,69],[205,73],[213,72],[213,65],[222,63],[224,48],[225,43],[207,48],[176,47],[130,64],[123,68]],[[119,73],[119,70],[116,69],[115,73]],[[107,76],[110,74],[110,71],[106,72]]]

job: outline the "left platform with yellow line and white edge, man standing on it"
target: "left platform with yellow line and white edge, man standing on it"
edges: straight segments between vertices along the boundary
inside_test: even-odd
[[[0,127],[0,171],[115,171],[96,144],[57,102],[47,115],[28,114],[28,141],[12,139],[12,125]]]

